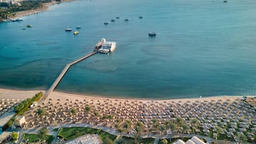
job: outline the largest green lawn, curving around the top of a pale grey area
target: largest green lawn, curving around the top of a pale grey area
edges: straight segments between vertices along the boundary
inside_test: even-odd
[[[94,128],[80,128],[80,127],[74,127],[74,128],[60,128],[59,133],[57,134],[58,137],[64,138],[64,140],[71,140],[73,138],[80,137],[85,134],[98,134],[101,140],[106,140],[106,138],[109,138],[110,140],[115,140],[116,136],[111,135],[110,133],[107,133],[103,130],[94,129]]]

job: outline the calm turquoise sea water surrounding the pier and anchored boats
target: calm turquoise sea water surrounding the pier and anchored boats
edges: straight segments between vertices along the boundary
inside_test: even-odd
[[[58,91],[143,98],[255,95],[255,8],[255,0],[57,4],[0,24],[0,87],[46,90],[65,64],[105,37],[117,42],[116,51],[72,67]],[[22,30],[27,24],[33,27]],[[77,25],[80,34],[65,32]],[[150,31],[157,36],[148,37]]]

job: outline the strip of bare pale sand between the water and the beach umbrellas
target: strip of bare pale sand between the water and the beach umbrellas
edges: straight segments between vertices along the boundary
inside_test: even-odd
[[[33,97],[37,92],[46,92],[45,90],[15,90],[15,89],[5,89],[0,88],[0,99],[20,99],[24,100],[28,97]],[[58,99],[62,97],[62,99],[93,99],[93,100],[120,100],[120,101],[202,101],[202,100],[221,100],[221,99],[231,99],[231,98],[242,98],[241,95],[219,95],[219,96],[212,96],[212,97],[189,97],[189,98],[141,98],[141,97],[107,97],[104,95],[87,95],[87,94],[77,94],[77,93],[68,93],[68,92],[57,92],[53,91],[49,98]],[[255,97],[255,96],[247,96],[247,97]]]

